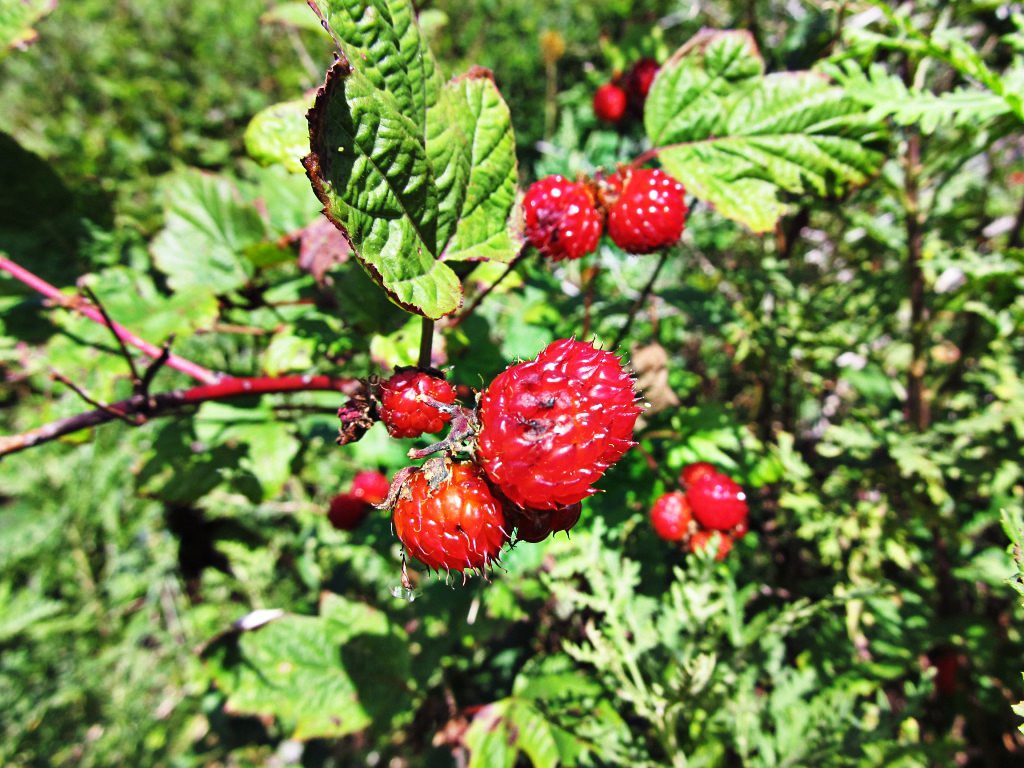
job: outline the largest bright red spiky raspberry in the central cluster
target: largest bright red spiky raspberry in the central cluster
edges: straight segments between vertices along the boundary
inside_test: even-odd
[[[639,413],[618,357],[560,339],[484,390],[477,457],[520,507],[575,504],[596,493],[591,483],[634,444]]]

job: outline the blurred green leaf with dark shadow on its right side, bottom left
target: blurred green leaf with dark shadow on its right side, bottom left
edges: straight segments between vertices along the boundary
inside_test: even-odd
[[[380,611],[324,593],[319,616],[289,614],[231,633],[206,658],[228,712],[275,717],[296,739],[337,738],[375,717],[387,728],[404,694],[407,645]]]

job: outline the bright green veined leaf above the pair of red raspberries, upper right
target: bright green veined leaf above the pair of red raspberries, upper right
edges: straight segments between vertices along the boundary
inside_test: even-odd
[[[783,193],[837,197],[883,160],[881,128],[842,88],[763,69],[749,33],[700,33],[662,68],[644,113],[666,170],[756,232],[774,227]]]

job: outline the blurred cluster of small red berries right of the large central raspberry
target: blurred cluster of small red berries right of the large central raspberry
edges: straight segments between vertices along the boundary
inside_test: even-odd
[[[723,559],[732,543],[746,536],[746,495],[708,462],[683,467],[679,481],[684,490],[663,494],[651,507],[654,532],[689,547],[690,552],[702,551],[714,541],[716,557]]]

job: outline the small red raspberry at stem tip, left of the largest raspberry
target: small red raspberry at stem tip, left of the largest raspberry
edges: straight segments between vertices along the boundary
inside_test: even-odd
[[[419,437],[433,433],[452,420],[421,396],[451,406],[455,389],[444,379],[415,369],[399,369],[380,385],[380,417],[392,437]]]

